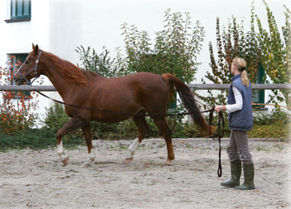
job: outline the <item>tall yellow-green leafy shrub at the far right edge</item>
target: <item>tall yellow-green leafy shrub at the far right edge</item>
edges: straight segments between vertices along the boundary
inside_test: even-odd
[[[291,12],[285,5],[285,26],[282,27],[282,34],[279,32],[275,17],[270,10],[265,0],[263,3],[267,10],[267,20],[269,31],[261,25],[259,16],[256,15],[256,20],[259,28],[257,38],[260,46],[260,62],[266,70],[266,74],[274,83],[290,83],[291,78]],[[269,81],[266,79],[266,82]],[[275,96],[270,96],[270,101],[283,102],[284,99],[290,107],[290,91],[274,90]]]

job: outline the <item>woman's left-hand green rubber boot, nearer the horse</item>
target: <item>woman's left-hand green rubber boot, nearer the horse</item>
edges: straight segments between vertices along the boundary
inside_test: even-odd
[[[224,187],[240,186],[240,178],[242,174],[242,161],[230,162],[231,178],[229,181],[221,182],[220,185]]]

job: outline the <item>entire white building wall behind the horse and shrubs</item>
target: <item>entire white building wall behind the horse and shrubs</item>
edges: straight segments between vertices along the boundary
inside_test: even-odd
[[[5,66],[7,54],[28,53],[32,43],[46,51],[77,64],[79,57],[75,49],[92,47],[97,52],[105,46],[110,55],[115,56],[115,48],[124,48],[124,36],[121,36],[121,24],[135,24],[139,30],[145,30],[154,40],[155,32],[164,26],[164,12],[190,12],[192,21],[199,20],[205,27],[206,37],[203,49],[198,56],[202,64],[193,83],[200,83],[206,71],[210,70],[208,44],[216,45],[216,17],[227,25],[232,15],[245,17],[244,28],[249,30],[250,6],[252,0],[32,0],[31,21],[6,23],[10,17],[10,0],[0,0],[0,66]],[[267,0],[278,27],[285,24],[283,4],[291,8],[290,0]],[[255,12],[265,28],[266,10],[262,1],[255,1]],[[49,85],[45,80],[44,85]],[[206,91],[199,91],[199,93]],[[59,99],[56,93],[46,93]],[[267,95],[268,93],[266,93]],[[50,101],[39,97],[39,113],[49,107]]]

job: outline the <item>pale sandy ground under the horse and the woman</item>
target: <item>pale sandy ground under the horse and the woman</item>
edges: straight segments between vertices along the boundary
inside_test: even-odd
[[[230,174],[223,141],[223,176],[217,177],[218,142],[174,141],[174,166],[164,165],[162,140],[144,140],[124,164],[132,141],[95,141],[96,162],[81,168],[86,147],[0,153],[0,209],[276,209],[291,208],[291,144],[251,141],[255,190],[220,182]],[[64,143],[65,144],[65,143]],[[241,182],[243,181],[243,177]]]

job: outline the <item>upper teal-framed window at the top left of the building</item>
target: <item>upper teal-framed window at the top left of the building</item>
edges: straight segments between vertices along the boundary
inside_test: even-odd
[[[10,19],[5,22],[27,21],[31,19],[31,0],[11,0]]]

